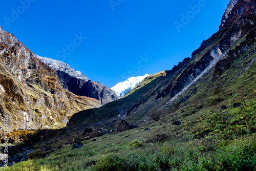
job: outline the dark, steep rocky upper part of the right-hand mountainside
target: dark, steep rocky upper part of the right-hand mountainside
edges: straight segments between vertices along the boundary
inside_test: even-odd
[[[255,0],[235,3],[231,1],[229,4],[221,29],[203,41],[191,58],[185,58],[170,71],[148,76],[120,100],[73,115],[69,125],[90,126],[93,122],[101,121],[102,125],[109,126],[113,125],[110,124],[113,119],[123,118],[129,122],[143,123],[156,110],[170,109],[175,103],[189,101],[191,95],[184,94],[191,91],[193,84],[198,83],[204,75],[211,75],[212,81],[220,78],[233,60],[255,42]]]

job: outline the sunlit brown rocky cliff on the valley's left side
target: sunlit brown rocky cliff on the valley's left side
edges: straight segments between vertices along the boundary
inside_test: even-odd
[[[0,27],[0,127],[9,130],[65,126],[74,113],[99,107],[97,100],[61,87],[57,73]]]

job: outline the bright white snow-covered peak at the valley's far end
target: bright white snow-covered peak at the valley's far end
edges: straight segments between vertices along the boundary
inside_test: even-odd
[[[132,90],[137,84],[139,84],[144,78],[146,78],[148,74],[145,74],[144,76],[139,76],[139,77],[131,77],[128,78],[127,80],[123,82],[119,82],[111,88],[118,96],[122,97],[124,96],[127,92]]]

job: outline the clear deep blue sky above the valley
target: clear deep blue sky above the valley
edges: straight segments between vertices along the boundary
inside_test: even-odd
[[[170,70],[191,57],[218,31],[228,3],[3,0],[0,26],[35,54],[69,63],[89,79],[113,87],[129,76]],[[202,7],[192,12],[195,5]],[[175,22],[182,24],[182,14],[190,19],[183,20],[178,32]],[[82,36],[80,41],[77,36]],[[146,63],[140,58],[145,55],[151,59]]]

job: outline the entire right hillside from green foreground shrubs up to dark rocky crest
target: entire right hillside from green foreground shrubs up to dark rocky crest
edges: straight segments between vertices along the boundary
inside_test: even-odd
[[[231,0],[191,58],[64,129],[27,135],[36,150],[3,170],[255,170],[255,5]]]

